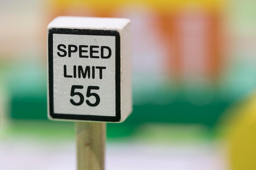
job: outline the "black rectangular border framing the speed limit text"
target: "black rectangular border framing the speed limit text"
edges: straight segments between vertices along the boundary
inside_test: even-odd
[[[54,87],[53,87],[53,34],[75,34],[75,35],[108,35],[116,38],[116,116],[97,116],[97,115],[74,115],[54,113]],[[52,119],[84,120],[84,121],[109,121],[118,122],[121,119],[121,89],[120,89],[120,35],[113,30],[91,30],[91,29],[63,29],[52,28],[48,31],[48,64],[49,64],[49,115]],[[86,112],[86,111],[85,111]]]

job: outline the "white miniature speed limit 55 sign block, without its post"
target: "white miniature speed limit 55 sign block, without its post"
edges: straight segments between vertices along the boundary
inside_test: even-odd
[[[122,122],[132,110],[130,20],[58,17],[48,33],[48,117]]]

